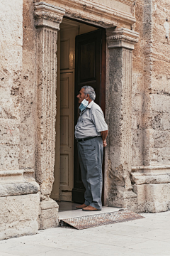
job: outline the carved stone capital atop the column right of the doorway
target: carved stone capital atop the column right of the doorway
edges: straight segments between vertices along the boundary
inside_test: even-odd
[[[128,28],[108,28],[106,30],[108,48],[128,48],[134,49],[138,42],[139,33]]]

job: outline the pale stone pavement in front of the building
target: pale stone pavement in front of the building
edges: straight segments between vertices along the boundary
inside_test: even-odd
[[[170,212],[142,215],[98,228],[51,228],[3,240],[0,256],[170,255]]]

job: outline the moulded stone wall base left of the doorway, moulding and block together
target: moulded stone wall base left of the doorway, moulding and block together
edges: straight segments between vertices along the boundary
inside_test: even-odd
[[[24,178],[24,170],[0,172],[0,240],[38,232],[38,183]]]

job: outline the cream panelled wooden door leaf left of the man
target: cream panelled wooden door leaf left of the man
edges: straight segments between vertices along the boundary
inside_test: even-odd
[[[74,73],[60,80],[60,200],[72,201],[74,169]]]

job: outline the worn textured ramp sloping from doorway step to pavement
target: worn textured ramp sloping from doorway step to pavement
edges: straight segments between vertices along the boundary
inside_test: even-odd
[[[108,225],[113,223],[121,223],[129,220],[138,220],[145,218],[130,210],[119,210],[113,213],[101,213],[95,215],[87,215],[75,218],[68,218],[60,220],[60,226],[64,227],[70,225],[78,230],[86,228],[94,228],[101,225]]]

